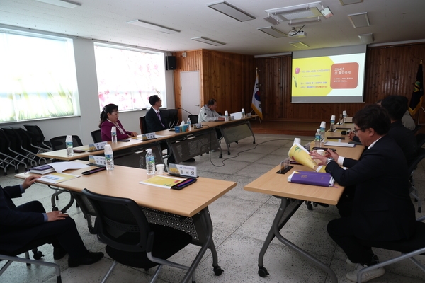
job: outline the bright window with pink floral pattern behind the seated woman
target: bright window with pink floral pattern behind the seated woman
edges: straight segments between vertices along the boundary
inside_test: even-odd
[[[100,110],[114,103],[120,110],[150,108],[157,94],[166,107],[164,54],[95,43]]]

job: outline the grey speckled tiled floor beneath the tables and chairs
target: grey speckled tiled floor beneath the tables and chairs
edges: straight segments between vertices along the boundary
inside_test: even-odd
[[[309,141],[312,137],[302,137],[302,141]],[[231,155],[225,151],[222,159],[218,152],[211,156],[204,154],[196,157],[196,166],[200,176],[232,180],[237,182],[230,192],[210,205],[210,214],[214,225],[214,241],[217,247],[219,265],[224,272],[217,277],[212,272],[212,258],[207,252],[203,261],[196,270],[196,282],[331,282],[327,274],[313,266],[307,260],[290,248],[283,246],[276,240],[271,243],[264,257],[264,266],[270,275],[259,277],[258,256],[263,240],[271,227],[273,216],[278,209],[279,201],[275,197],[254,192],[246,192],[243,187],[263,173],[278,165],[286,156],[293,143],[292,136],[256,134],[256,144],[251,138],[232,144]],[[414,174],[416,187],[422,200],[425,198],[425,171],[421,163]],[[15,185],[20,180],[13,178],[10,170],[6,177],[0,178],[0,185]],[[24,197],[16,199],[16,204],[29,200],[40,200],[50,209],[50,195],[52,190],[45,185],[35,184],[27,190]],[[59,207],[67,203],[68,195],[60,195]],[[415,207],[417,204],[415,203]],[[103,250],[103,244],[98,243],[96,236],[89,233],[86,221],[80,209],[73,206],[69,214],[76,219],[81,237],[89,250]],[[421,216],[423,214],[417,214]],[[307,250],[314,257],[329,265],[339,282],[348,282],[346,272],[351,271],[345,260],[346,255],[329,238],[326,225],[331,219],[338,217],[335,207],[314,207],[307,210],[305,204],[295,212],[288,224],[283,228],[283,235],[297,246]],[[189,245],[185,250],[174,256],[174,260],[190,264],[198,252],[198,246]],[[52,248],[45,245],[40,248],[45,253],[44,260],[53,261]],[[375,249],[381,260],[397,255],[387,250]],[[419,258],[425,262],[425,258]],[[62,281],[67,282],[100,282],[103,275],[111,266],[111,259],[106,256],[100,262],[77,268],[67,267],[67,256],[56,260],[62,268]],[[0,267],[3,262],[0,263]],[[425,273],[421,272],[412,262],[405,260],[385,268],[384,276],[370,282],[425,282]],[[149,282],[153,270],[137,270],[123,265],[115,267],[108,282]],[[157,282],[179,282],[183,278],[181,270],[164,267]],[[55,271],[51,267],[26,267],[22,263],[13,263],[0,277],[0,282],[55,282]]]

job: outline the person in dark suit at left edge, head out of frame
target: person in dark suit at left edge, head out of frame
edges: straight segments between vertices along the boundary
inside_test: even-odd
[[[0,187],[0,250],[13,252],[30,241],[52,237],[53,258],[59,260],[69,253],[69,267],[91,265],[101,260],[103,253],[91,253],[86,249],[68,214],[46,213],[38,201],[18,207],[13,204],[12,198],[21,197],[37,178],[31,175],[22,185]]]

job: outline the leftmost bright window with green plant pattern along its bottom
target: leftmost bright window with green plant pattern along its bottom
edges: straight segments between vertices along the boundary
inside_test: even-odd
[[[0,122],[77,115],[72,40],[0,28]]]

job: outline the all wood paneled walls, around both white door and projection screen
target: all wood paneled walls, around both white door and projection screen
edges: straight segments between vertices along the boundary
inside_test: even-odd
[[[367,103],[390,94],[410,100],[420,59],[425,59],[425,42],[412,45],[368,47],[365,70],[365,103],[290,103],[291,56],[259,58],[212,50],[175,52],[174,71],[176,108],[181,107],[180,71],[200,71],[201,103],[217,100],[218,112],[251,111],[255,71],[259,72],[264,120],[328,121],[331,115],[346,110],[354,115]],[[420,112],[421,124],[425,114]],[[417,115],[414,119],[417,121]]]

